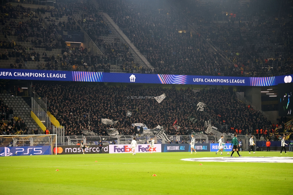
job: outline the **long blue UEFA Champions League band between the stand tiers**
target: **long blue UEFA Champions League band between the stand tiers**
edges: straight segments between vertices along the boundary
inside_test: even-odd
[[[0,69],[0,79],[123,82],[188,85],[272,86],[292,82],[292,75],[272,77],[194,76],[171,74],[104,73],[60,70]]]

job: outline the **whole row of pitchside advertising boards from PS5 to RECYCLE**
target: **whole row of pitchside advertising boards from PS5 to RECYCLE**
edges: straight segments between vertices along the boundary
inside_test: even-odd
[[[264,142],[265,143],[265,142]],[[277,143],[277,142],[276,142]],[[278,142],[278,146],[280,142]],[[98,154],[100,148],[98,145],[87,145],[89,148],[85,148],[85,154]],[[135,148],[135,153],[147,153],[151,150],[147,150],[150,144],[138,144]],[[155,144],[153,152],[191,152],[189,144]],[[194,145],[196,152],[216,152],[219,150],[219,144],[217,143],[197,143]],[[223,145],[223,152],[230,152],[232,150],[232,144],[226,143]],[[83,154],[80,145],[74,146],[57,146],[53,148],[53,154],[57,155],[69,155],[69,154]],[[118,145],[103,145],[102,153],[110,154],[123,154],[130,153],[131,148],[129,144]],[[23,155],[51,155],[51,146],[23,146],[23,147],[0,147],[0,156],[23,156]]]

